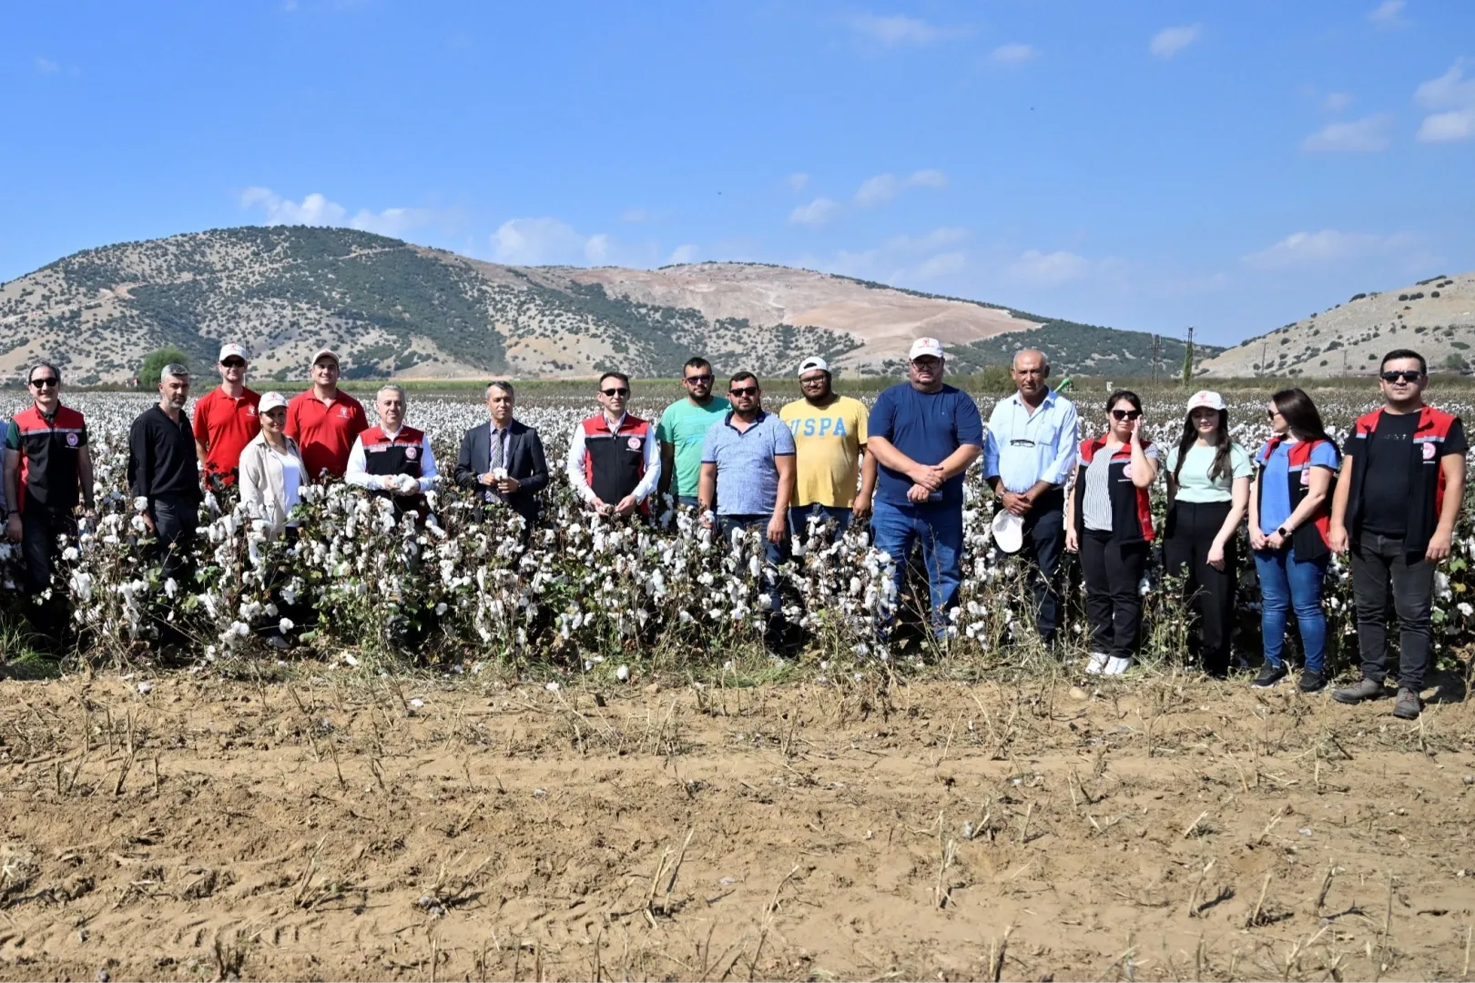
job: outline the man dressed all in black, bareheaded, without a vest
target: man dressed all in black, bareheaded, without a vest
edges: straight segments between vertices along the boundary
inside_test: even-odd
[[[204,500],[186,402],[189,368],[165,365],[159,376],[159,404],[145,410],[128,433],[128,488],[134,498],[148,501],[143,525],[158,538],[164,579],[176,582],[186,570]]]

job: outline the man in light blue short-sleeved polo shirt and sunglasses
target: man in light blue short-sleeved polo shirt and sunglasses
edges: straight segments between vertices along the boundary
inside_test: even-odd
[[[696,508],[702,525],[732,541],[736,529],[763,529],[767,539],[768,641],[782,631],[779,570],[789,545],[789,500],[794,497],[794,435],[777,413],[763,408],[763,389],[751,371],[727,386],[732,410],[707,430]]]

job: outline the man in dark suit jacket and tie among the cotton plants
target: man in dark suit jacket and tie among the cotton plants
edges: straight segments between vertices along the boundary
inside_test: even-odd
[[[510,382],[487,386],[491,423],[473,426],[462,438],[456,483],[481,491],[487,504],[506,503],[531,529],[538,517],[538,492],[549,483],[549,466],[538,432],[512,419],[515,399]]]

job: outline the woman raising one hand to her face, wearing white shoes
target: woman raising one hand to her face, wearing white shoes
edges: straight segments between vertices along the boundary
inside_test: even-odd
[[[1142,399],[1118,389],[1106,399],[1106,433],[1081,442],[1075,494],[1065,506],[1065,548],[1080,553],[1086,573],[1086,672],[1093,675],[1121,675],[1137,654],[1137,585],[1152,542],[1148,488],[1156,477],[1158,448],[1142,435]]]

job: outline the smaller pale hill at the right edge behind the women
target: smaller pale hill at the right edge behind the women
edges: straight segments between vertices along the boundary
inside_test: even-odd
[[[1375,371],[1412,348],[1432,370],[1475,364],[1475,273],[1357,293],[1345,304],[1251,337],[1202,364],[1208,376],[1341,376]]]

